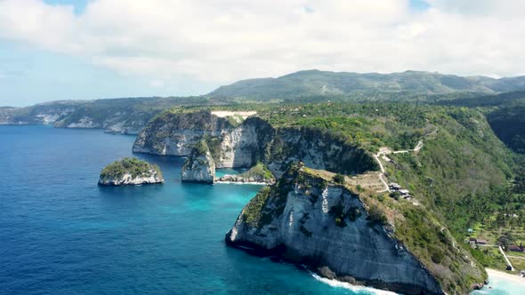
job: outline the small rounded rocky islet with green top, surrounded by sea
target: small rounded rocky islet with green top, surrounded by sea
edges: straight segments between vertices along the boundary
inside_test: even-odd
[[[101,171],[100,186],[125,186],[164,183],[158,165],[126,157],[110,163]]]

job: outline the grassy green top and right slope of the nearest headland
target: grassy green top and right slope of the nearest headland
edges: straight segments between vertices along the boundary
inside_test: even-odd
[[[403,243],[431,271],[443,290],[449,294],[467,293],[471,290],[472,283],[481,283],[487,278],[481,264],[464,248],[464,244],[457,243],[446,225],[421,203],[414,200],[396,200],[387,193],[363,189],[352,183],[348,177],[341,182],[336,174],[327,171],[316,171],[306,167],[292,169],[296,173],[293,181],[305,186],[319,183],[342,185],[359,195],[359,199],[366,206],[369,224],[379,224],[388,228],[391,235]],[[264,195],[265,192],[259,199]],[[254,207],[257,203],[260,202],[254,202]],[[335,222],[351,222],[352,212],[342,213],[335,218]]]

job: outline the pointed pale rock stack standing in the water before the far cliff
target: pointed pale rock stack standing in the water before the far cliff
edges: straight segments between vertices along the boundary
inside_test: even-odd
[[[205,140],[199,140],[182,166],[181,179],[186,182],[214,183],[215,163]]]

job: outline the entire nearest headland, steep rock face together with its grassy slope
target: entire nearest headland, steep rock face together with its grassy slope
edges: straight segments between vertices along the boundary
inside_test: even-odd
[[[404,294],[466,293],[472,282],[483,281],[480,268],[465,261],[464,252],[452,249],[450,259],[465,271],[448,269],[448,261],[428,262],[425,247],[408,250],[404,236],[396,235],[386,217],[392,211],[306,171],[292,167],[276,185],[264,187],[238,216],[227,243],[281,255],[322,275]],[[398,226],[412,227],[408,222]],[[461,281],[466,277],[472,281]]]

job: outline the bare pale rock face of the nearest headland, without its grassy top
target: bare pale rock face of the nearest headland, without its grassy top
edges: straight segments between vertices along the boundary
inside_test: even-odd
[[[276,208],[283,205],[279,213]],[[287,259],[381,289],[443,294],[430,272],[384,227],[368,224],[363,203],[346,188],[298,185],[287,195],[270,196],[262,214],[274,215],[259,227],[245,221],[246,210],[226,236],[230,244],[280,251]],[[337,225],[337,210],[354,211],[355,219]]]

